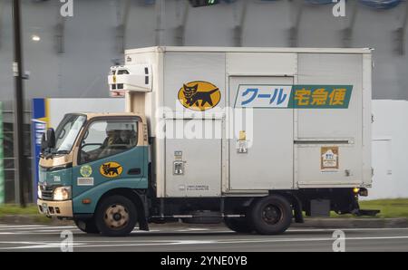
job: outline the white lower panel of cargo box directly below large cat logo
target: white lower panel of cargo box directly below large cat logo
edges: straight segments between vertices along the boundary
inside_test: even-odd
[[[173,138],[179,138],[176,137],[178,134],[176,129],[180,126],[184,126],[185,130],[200,126],[203,127],[203,132],[211,127],[213,134],[216,134],[221,125],[221,120],[166,120],[166,130],[173,133],[174,136],[171,136]],[[184,135],[184,139],[166,138],[166,197],[219,197],[221,137],[188,139],[189,134]],[[180,175],[174,173],[174,161],[183,162]]]

